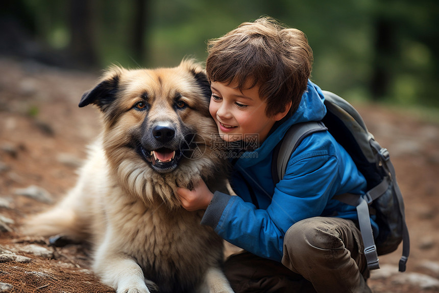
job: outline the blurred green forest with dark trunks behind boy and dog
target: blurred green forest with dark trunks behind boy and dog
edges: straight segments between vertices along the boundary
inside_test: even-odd
[[[0,54],[96,70],[206,59],[206,42],[272,16],[305,32],[312,80],[347,99],[439,107],[437,0],[3,0]]]

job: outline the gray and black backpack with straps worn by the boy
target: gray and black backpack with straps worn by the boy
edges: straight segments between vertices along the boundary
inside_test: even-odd
[[[403,241],[399,271],[406,269],[410,240],[405,222],[404,202],[387,149],[382,148],[368,131],[360,114],[343,98],[323,91],[327,114],[320,122],[292,125],[273,152],[272,177],[276,185],[285,174],[286,165],[302,140],[316,131],[328,130],[352,157],[367,181],[363,195],[337,194],[333,198],[355,206],[369,269],[379,268],[378,255],[395,251]],[[379,234],[374,238],[370,214],[376,215]]]

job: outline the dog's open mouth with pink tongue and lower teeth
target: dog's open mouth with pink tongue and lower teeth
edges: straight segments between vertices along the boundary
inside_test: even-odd
[[[143,159],[151,163],[151,167],[159,173],[167,173],[177,168],[182,156],[180,150],[172,150],[164,147],[149,151],[139,146],[139,150]]]

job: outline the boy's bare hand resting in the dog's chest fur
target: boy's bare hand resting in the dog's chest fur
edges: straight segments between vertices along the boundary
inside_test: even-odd
[[[177,188],[177,195],[182,207],[190,212],[207,209],[213,198],[213,193],[210,192],[202,179],[194,183],[192,190]]]

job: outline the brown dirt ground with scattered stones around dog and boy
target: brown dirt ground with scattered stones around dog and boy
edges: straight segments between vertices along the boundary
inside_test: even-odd
[[[100,130],[93,107],[79,108],[98,76],[0,58],[0,292],[112,292],[89,271],[86,246],[49,246],[19,233],[20,222],[59,200],[76,181],[84,146]],[[374,292],[439,291],[439,125],[409,110],[355,104],[397,170],[411,237],[406,273],[398,251],[380,257]],[[21,195],[43,188],[42,198]],[[8,229],[9,228],[9,229]],[[29,245],[46,249],[37,254]]]

